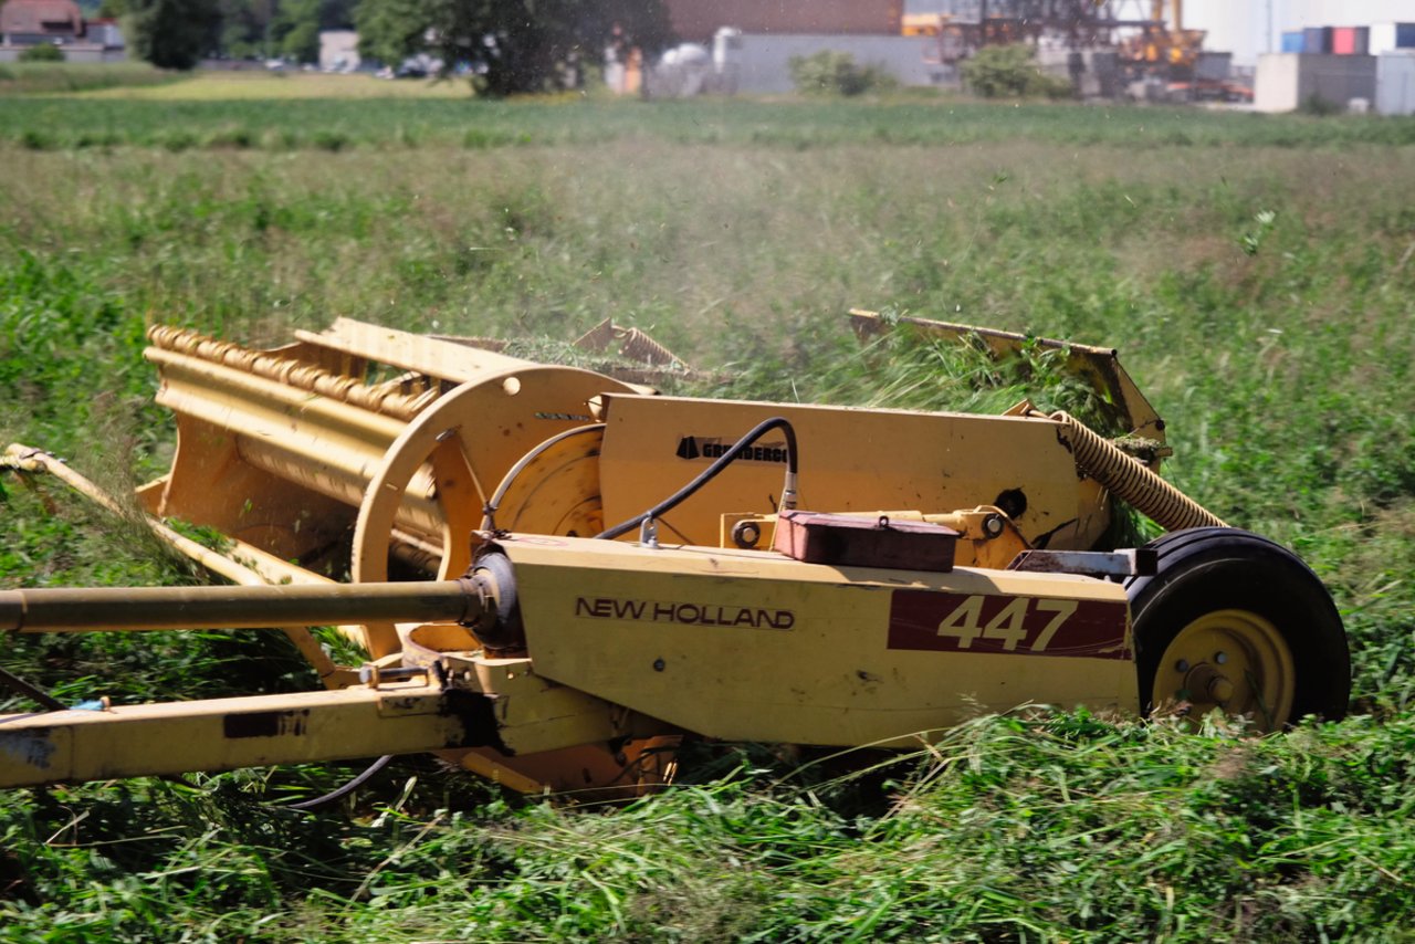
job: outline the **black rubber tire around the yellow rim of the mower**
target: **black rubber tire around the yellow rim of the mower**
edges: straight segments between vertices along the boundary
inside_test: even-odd
[[[1149,543],[1157,552],[1155,576],[1128,577],[1140,703],[1150,692],[1159,660],[1180,630],[1207,613],[1248,610],[1272,623],[1292,651],[1296,691],[1286,719],[1330,720],[1346,715],[1351,698],[1351,657],[1332,594],[1312,569],[1279,543],[1237,528],[1189,528]]]

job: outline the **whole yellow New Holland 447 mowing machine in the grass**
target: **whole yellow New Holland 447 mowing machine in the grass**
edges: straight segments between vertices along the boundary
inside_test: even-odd
[[[4,674],[50,710],[0,716],[0,785],[432,752],[521,791],[638,790],[683,737],[891,747],[1023,703],[1343,713],[1326,589],[1160,478],[1165,423],[1115,351],[904,321],[1054,350],[1129,436],[1030,403],[664,396],[351,320],[276,350],[153,328],[177,444],[137,502],[231,585],[4,590],[0,631],[279,628],[324,688],[89,710]],[[122,504],[37,449],[4,464]],[[1116,502],[1166,534],[1107,546]]]

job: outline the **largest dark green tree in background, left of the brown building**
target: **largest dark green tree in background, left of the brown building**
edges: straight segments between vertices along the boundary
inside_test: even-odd
[[[491,95],[563,84],[569,65],[599,61],[620,27],[655,52],[672,38],[662,0],[359,0],[359,51],[395,64],[429,52],[468,65]]]

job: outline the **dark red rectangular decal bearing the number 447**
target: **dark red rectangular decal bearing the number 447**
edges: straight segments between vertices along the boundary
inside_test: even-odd
[[[1126,604],[894,590],[889,648],[1073,658],[1132,658]]]

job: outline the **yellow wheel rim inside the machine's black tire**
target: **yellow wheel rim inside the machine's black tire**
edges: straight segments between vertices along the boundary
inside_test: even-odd
[[[1193,718],[1217,708],[1275,730],[1292,716],[1296,688],[1292,650],[1278,627],[1251,610],[1215,610],[1165,648],[1150,705],[1184,705]]]

